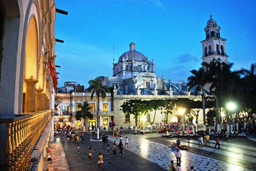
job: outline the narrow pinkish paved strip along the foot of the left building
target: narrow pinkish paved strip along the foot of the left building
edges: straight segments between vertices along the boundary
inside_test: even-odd
[[[61,138],[56,138],[55,142],[50,144],[50,147],[53,162],[48,162],[48,170],[69,171],[67,159],[64,154],[63,146],[61,144]]]

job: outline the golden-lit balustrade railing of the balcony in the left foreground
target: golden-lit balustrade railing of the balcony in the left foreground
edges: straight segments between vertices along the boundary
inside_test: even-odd
[[[1,116],[0,124],[7,124],[5,170],[28,170],[31,151],[39,139],[52,111],[39,111],[20,116]]]

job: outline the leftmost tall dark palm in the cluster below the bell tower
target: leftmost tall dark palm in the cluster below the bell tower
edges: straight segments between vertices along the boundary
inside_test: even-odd
[[[203,124],[206,125],[206,97],[205,92],[203,90],[203,87],[206,84],[206,71],[205,69],[199,68],[198,71],[192,70],[190,71],[192,73],[192,76],[189,76],[187,79],[189,82],[187,85],[189,86],[189,91],[192,90],[193,87],[196,87],[195,93],[197,95],[197,92],[201,92],[202,96],[202,102],[203,102]]]

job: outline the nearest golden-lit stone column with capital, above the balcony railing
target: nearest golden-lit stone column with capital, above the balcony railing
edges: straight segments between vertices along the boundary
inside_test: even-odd
[[[37,79],[25,79],[26,82],[26,97],[25,97],[25,108],[24,112],[36,111],[36,84]]]

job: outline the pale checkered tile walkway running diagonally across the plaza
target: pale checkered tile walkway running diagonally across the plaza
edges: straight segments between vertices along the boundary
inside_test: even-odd
[[[159,166],[169,170],[170,160],[173,160],[176,164],[176,157],[173,151],[170,151],[168,146],[162,143],[157,143],[146,138],[159,137],[157,134],[148,135],[127,135],[129,138],[129,148],[127,150],[134,152],[142,156],[144,159],[148,159],[150,162],[159,164]],[[119,138],[112,138],[110,140],[116,140],[119,142]],[[197,146],[197,145],[196,145]],[[256,149],[256,148],[255,148]],[[215,150],[214,152],[216,152]],[[227,153],[227,151],[219,150],[218,153]],[[236,164],[230,164],[228,162],[222,162],[217,159],[213,159],[208,156],[200,154],[194,154],[189,151],[181,151],[181,169],[189,170],[190,166],[194,166],[195,170],[247,170]],[[230,157],[230,160],[233,158]]]

